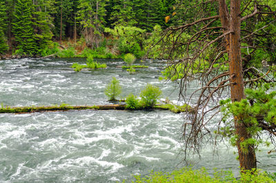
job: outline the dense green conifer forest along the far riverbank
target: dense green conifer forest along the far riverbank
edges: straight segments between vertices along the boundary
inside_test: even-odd
[[[127,52],[141,57],[148,45],[145,40],[152,42],[150,37],[156,36],[152,32],[172,25],[168,16],[173,14],[175,3],[175,0],[0,1],[0,55],[46,56],[61,48],[68,50],[70,56],[70,52],[77,54],[90,48],[106,57]]]

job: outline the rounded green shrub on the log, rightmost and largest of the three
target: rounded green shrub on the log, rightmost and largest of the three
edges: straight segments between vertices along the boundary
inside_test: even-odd
[[[157,103],[157,100],[160,99],[162,91],[157,87],[151,84],[147,84],[146,88],[141,91],[141,106],[144,108],[153,108]]]

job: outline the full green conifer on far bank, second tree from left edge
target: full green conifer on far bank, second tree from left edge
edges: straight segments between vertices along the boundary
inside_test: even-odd
[[[17,44],[17,53],[20,55],[36,55],[37,39],[34,36],[32,23],[32,0],[17,0],[14,9],[15,21],[12,23]]]

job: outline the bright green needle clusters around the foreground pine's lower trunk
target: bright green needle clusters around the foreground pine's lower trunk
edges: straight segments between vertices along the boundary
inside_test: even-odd
[[[237,135],[233,124],[228,120],[235,117],[237,122],[243,123],[246,126],[248,133],[252,136],[241,142],[241,147],[246,152],[248,146],[257,146],[259,144],[269,145],[268,142],[259,139],[262,131],[270,131],[275,128],[276,124],[276,91],[269,91],[269,86],[266,84],[263,88],[256,90],[247,89],[246,99],[241,102],[230,102],[230,99],[221,101],[220,104],[224,114],[223,122],[226,124],[221,128],[220,135],[230,137],[230,142],[235,146]]]

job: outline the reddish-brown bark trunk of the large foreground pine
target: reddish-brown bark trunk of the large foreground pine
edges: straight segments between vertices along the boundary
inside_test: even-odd
[[[229,71],[231,82],[231,99],[232,102],[238,102],[245,98],[244,95],[244,78],[242,74],[242,55],[240,49],[241,37],[241,17],[240,17],[241,0],[230,1],[230,51],[229,51]],[[237,135],[237,149],[239,153],[239,165],[241,169],[251,170],[256,168],[256,156],[254,146],[248,146],[245,150],[241,148],[241,143],[250,138],[246,131],[246,126],[235,117],[235,130]]]

